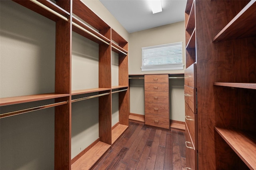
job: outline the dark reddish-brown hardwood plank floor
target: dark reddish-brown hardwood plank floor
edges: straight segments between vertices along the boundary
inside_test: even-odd
[[[97,162],[93,170],[185,170],[184,132],[145,127],[128,129]]]

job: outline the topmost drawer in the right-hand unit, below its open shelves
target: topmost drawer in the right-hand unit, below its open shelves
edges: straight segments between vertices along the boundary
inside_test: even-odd
[[[196,88],[196,63],[185,69],[184,83],[187,86]]]

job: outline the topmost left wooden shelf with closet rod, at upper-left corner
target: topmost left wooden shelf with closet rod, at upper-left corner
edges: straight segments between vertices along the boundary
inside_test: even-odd
[[[68,21],[68,16],[70,16],[69,12],[60,8],[60,6],[54,4],[50,0],[13,0],[13,1],[53,21],[58,21],[60,20],[60,18]]]

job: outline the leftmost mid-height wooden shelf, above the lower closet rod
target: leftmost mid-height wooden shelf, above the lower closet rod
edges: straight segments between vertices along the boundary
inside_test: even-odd
[[[69,94],[45,93],[45,94],[38,94],[38,95],[5,97],[5,98],[0,98],[0,106],[14,105],[14,104],[26,103],[26,102],[32,102],[32,101],[41,101],[41,100],[47,100],[47,99],[56,99],[59,97],[66,97],[66,96],[69,96]]]

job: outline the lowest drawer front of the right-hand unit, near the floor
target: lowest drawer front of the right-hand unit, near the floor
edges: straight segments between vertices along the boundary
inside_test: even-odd
[[[186,138],[186,169],[188,170],[197,170],[197,150],[194,150],[194,147],[191,142],[191,138],[188,133],[188,127],[185,126],[185,138]]]

